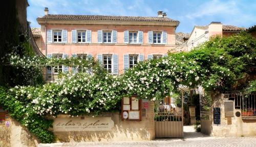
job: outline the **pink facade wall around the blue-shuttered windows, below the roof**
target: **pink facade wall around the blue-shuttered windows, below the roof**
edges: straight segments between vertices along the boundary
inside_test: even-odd
[[[64,25],[64,24],[48,24],[47,30],[67,30],[68,43],[47,43],[48,53],[65,53],[72,54],[92,54],[97,58],[97,54],[118,54],[119,74],[123,73],[123,54],[144,54],[144,60],[147,54],[166,54],[168,50],[176,47],[175,27],[174,26],[131,26],[131,25]],[[92,43],[72,43],[72,30],[91,30]],[[98,43],[98,30],[116,30],[117,44]],[[124,44],[123,31],[143,31],[143,44]],[[45,28],[41,27],[41,49],[45,54]],[[167,32],[167,44],[152,45],[148,44],[148,31],[165,31]],[[180,50],[179,50],[180,51]]]

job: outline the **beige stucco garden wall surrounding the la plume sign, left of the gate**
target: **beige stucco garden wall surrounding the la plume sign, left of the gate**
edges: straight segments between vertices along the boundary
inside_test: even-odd
[[[122,121],[121,114],[104,113],[99,117],[111,117],[114,127],[111,131],[54,132],[57,142],[83,141],[138,141],[155,139],[154,102],[148,103],[146,116],[141,121]],[[59,117],[69,117],[61,115]]]

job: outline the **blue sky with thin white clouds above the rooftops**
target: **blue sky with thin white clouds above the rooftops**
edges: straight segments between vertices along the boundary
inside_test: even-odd
[[[207,25],[211,21],[222,24],[250,27],[256,25],[256,1],[199,1],[199,0],[28,0],[28,21],[32,27],[40,27],[36,21],[49,14],[157,16],[157,11],[179,20],[176,32],[190,33],[195,25]]]

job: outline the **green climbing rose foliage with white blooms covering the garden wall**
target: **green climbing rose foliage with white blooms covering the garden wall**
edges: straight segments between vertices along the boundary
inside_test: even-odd
[[[169,53],[168,57],[139,62],[121,76],[111,75],[93,59],[42,58],[10,54],[5,58],[13,67],[31,65],[82,66],[88,73],[62,74],[44,85],[2,89],[0,102],[11,116],[34,133],[41,142],[53,142],[47,116],[93,114],[118,109],[122,97],[155,101],[173,95],[180,85],[206,90],[231,90],[238,79],[255,66],[255,39],[247,34],[212,38],[190,52]],[[179,98],[177,96],[177,98]],[[210,102],[210,99],[205,99]],[[205,108],[208,109],[208,108]]]

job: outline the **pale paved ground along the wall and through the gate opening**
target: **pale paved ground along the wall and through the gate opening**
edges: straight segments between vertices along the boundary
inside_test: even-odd
[[[143,147],[143,146],[256,146],[256,137],[210,137],[195,132],[192,126],[184,126],[184,138],[156,139],[153,141],[119,141],[119,142],[69,142],[39,144],[40,147],[86,147],[86,146],[122,146],[122,147]]]

